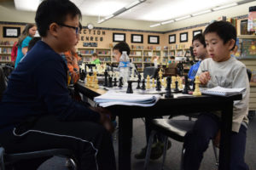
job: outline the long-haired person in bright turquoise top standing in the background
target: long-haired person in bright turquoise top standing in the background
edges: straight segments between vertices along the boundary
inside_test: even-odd
[[[22,31],[17,43],[18,53],[15,61],[15,68],[20,63],[20,59],[22,59],[26,54],[28,43],[31,41],[32,37],[35,36],[36,31],[37,26],[34,24],[27,24],[25,29]]]

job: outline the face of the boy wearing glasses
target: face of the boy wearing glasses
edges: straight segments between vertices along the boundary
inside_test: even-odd
[[[58,45],[63,51],[71,50],[78,43],[79,35],[75,29],[67,26],[79,27],[79,16],[72,18],[68,14],[67,20],[61,24],[66,26],[60,26],[58,29]]]

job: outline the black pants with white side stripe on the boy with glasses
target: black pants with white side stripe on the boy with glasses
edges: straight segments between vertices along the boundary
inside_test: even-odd
[[[111,134],[95,122],[60,122],[55,116],[44,116],[29,126],[0,134],[0,143],[7,153],[70,149],[79,169],[116,169]],[[19,162],[18,169],[37,169],[46,159]]]

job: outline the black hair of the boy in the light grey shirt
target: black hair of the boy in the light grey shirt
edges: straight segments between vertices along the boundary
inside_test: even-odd
[[[206,30],[204,31],[204,36],[207,35],[207,33],[215,32],[218,37],[220,37],[224,44],[231,39],[235,40],[234,47],[231,49],[233,50],[236,46],[236,27],[233,26],[230,22],[227,21],[216,21],[207,26]]]

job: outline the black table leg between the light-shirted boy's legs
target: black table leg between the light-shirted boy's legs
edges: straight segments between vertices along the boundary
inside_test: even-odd
[[[230,169],[230,137],[232,129],[233,101],[225,103],[221,114],[221,137],[219,150],[219,170]]]

